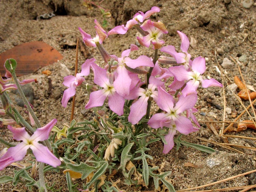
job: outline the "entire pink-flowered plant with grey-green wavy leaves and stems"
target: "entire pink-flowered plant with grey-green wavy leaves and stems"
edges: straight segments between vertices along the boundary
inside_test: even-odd
[[[13,139],[22,142],[12,146],[0,139],[10,147],[1,153],[0,169],[22,160],[28,148],[32,149],[36,160],[41,163],[38,170],[39,182],[27,172],[35,164],[15,171],[13,178],[0,177],[0,182],[12,181],[15,186],[22,182],[21,177],[30,182],[29,190],[34,186],[47,191],[53,189],[53,186],[45,185],[44,172],[62,170],[66,175],[69,191],[89,191],[93,188],[98,191],[100,187],[103,191],[119,192],[121,189],[116,183],[106,178],[107,175],[114,176],[120,170],[127,185],[147,188],[149,178],[153,178],[156,189],[165,186],[169,191],[175,191],[166,177],[171,172],[156,174],[159,167],[148,164],[153,159],[150,152],[145,153],[150,150],[149,145],[162,140],[163,153],[170,152],[174,143],[177,144],[177,149],[182,144],[207,153],[214,152],[211,148],[182,141],[180,137],[181,134],[188,135],[200,128],[194,115],[197,111],[194,106],[200,82],[203,88],[222,85],[213,78],[204,79],[202,75],[206,70],[205,60],[202,57],[191,60],[188,53],[189,40],[184,33],[177,31],[181,38],[181,52],[176,52],[172,45],[163,46],[165,42],[162,37],[168,33],[167,29],[161,21],[149,20],[152,14],[159,11],[158,7],[152,7],[146,13],[138,12],[125,26],[116,26],[108,33],[95,20],[96,36],[93,38],[82,28],[78,28],[84,43],[99,49],[105,65],[99,65],[94,58],[87,59],[81,66],[80,73],[64,77],[63,84],[68,88],[64,91],[61,103],[63,107],[67,107],[70,98],[76,94],[76,89],[84,88],[89,96],[85,108],[94,111],[90,121],[76,122],[73,119],[60,130],[54,126],[57,122],[54,119],[42,127],[33,110],[29,109],[35,127],[28,124],[11,104],[6,92],[10,88],[20,87],[15,76],[17,64],[12,59],[5,62],[11,74],[8,77],[13,76],[15,84],[10,84],[9,80],[0,81],[3,104],[1,114],[12,118],[6,120],[5,124],[21,125],[22,128],[8,125],[8,129],[13,133]],[[125,34],[132,27],[142,35],[137,37],[138,43],[154,52],[152,58],[148,55],[130,57],[131,52],[139,49],[134,44],[121,55],[110,54],[104,48],[106,38]],[[159,56],[162,54],[160,52],[171,57]],[[168,68],[161,67],[162,64]],[[91,71],[94,84],[86,80]],[[20,89],[19,91],[21,92]],[[25,104],[28,107],[28,102]],[[158,109],[157,112],[155,109]],[[54,134],[50,135],[51,130]],[[180,135],[175,139],[177,132]],[[41,144],[38,141],[43,142]],[[44,163],[48,165],[44,167]],[[83,189],[78,184],[73,184],[72,179],[81,179]]]

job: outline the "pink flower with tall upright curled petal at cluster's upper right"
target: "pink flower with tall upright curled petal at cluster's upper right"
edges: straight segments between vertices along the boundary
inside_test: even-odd
[[[172,55],[172,57],[175,58],[175,60],[178,64],[183,64],[184,67],[186,69],[188,69],[189,63],[191,62],[191,60],[190,60],[191,55],[188,53],[189,40],[188,40],[188,37],[184,33],[180,32],[180,31],[177,31],[177,32],[181,39],[180,49],[181,49],[182,53],[176,52],[175,47],[172,45],[167,45],[167,46],[162,47],[161,51]]]

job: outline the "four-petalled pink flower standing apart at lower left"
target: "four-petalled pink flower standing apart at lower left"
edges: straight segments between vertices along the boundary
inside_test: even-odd
[[[10,147],[0,158],[0,170],[3,170],[13,162],[21,161],[27,154],[28,148],[32,149],[37,161],[52,165],[53,167],[59,166],[61,164],[60,160],[47,147],[38,142],[48,139],[52,127],[56,123],[57,119],[53,119],[44,127],[38,128],[32,136],[26,132],[25,127],[16,128],[8,125],[8,129],[13,134],[13,139],[22,140],[22,142],[15,147]]]

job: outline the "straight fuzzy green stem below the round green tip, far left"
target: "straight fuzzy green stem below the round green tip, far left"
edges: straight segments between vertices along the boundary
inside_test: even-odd
[[[28,109],[29,113],[31,114],[31,116],[32,116],[33,119],[35,120],[36,128],[42,127],[41,124],[40,124],[40,122],[39,122],[39,120],[38,120],[37,117],[36,117],[36,114],[34,113],[33,109],[32,109],[31,106],[29,105],[28,100],[27,100],[26,96],[24,95],[24,93],[23,93],[23,91],[22,91],[22,89],[21,89],[21,86],[20,86],[20,83],[19,83],[19,81],[18,81],[18,79],[17,79],[16,74],[15,74],[15,73],[12,73],[12,77],[13,77],[13,80],[14,80],[14,82],[15,82],[17,88],[18,88],[18,91],[19,91],[19,93],[20,93],[21,99],[23,100],[23,102],[24,102],[25,105],[27,106],[27,109]]]

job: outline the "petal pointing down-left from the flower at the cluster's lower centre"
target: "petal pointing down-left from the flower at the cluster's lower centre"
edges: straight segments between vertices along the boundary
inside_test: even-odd
[[[147,106],[148,106],[148,98],[146,95],[142,95],[140,99],[138,99],[131,106],[131,112],[128,116],[128,121],[132,124],[136,124],[140,121],[140,119],[146,115]]]

